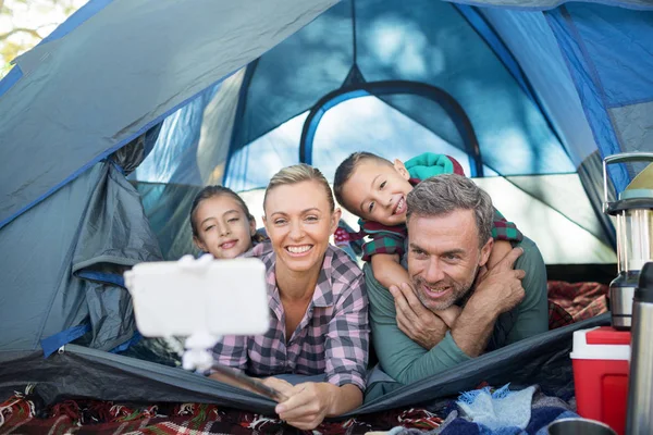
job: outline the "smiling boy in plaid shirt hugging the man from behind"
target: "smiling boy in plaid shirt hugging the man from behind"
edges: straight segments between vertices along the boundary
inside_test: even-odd
[[[451,173],[465,175],[455,159],[429,152],[406,164],[396,159],[392,163],[370,152],[355,152],[335,171],[335,198],[360,217],[362,235],[372,238],[362,246],[362,259],[371,263],[374,277],[386,288],[410,282],[408,272],[401,264],[407,239],[406,196],[422,179]],[[515,224],[507,222],[496,210],[492,236],[496,241],[488,268],[510,251],[510,241],[522,239]],[[457,307],[441,315],[449,327],[457,316],[456,310]]]

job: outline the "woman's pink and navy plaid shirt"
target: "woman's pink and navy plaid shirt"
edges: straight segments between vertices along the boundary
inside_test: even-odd
[[[368,298],[358,265],[329,246],[312,300],[288,340],[274,273],[276,256],[263,243],[249,257],[266,264],[270,330],[264,335],[223,337],[213,349],[215,361],[258,376],[325,373],[331,384],[354,384],[365,390]]]

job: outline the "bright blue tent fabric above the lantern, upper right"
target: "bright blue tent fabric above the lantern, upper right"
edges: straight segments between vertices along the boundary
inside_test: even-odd
[[[546,16],[602,154],[650,150],[653,14],[569,4],[546,12]],[[624,128],[626,135],[620,134]],[[611,165],[608,171],[621,191],[642,169]]]

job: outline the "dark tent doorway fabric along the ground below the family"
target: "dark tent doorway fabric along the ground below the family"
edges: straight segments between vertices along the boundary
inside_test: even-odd
[[[368,386],[361,407],[343,418],[426,403],[472,389],[481,382],[514,387],[540,384],[552,395],[572,394],[569,352],[574,331],[605,325],[609,314],[571,324],[466,361],[420,383],[379,382]],[[0,395],[36,384],[46,403],[64,397],[115,401],[196,401],[273,413],[274,402],[202,375],[69,345],[42,359],[38,353],[0,351]],[[65,368],[65,370],[63,370]],[[74,370],[73,370],[74,368]],[[53,373],[58,373],[53,376]],[[125,385],[138,387],[125,388]]]

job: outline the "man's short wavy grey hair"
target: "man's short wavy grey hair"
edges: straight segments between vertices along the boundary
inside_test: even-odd
[[[411,216],[443,216],[456,210],[473,211],[479,247],[492,237],[494,208],[490,195],[471,179],[457,174],[435,175],[419,183],[406,197],[406,222]]]

